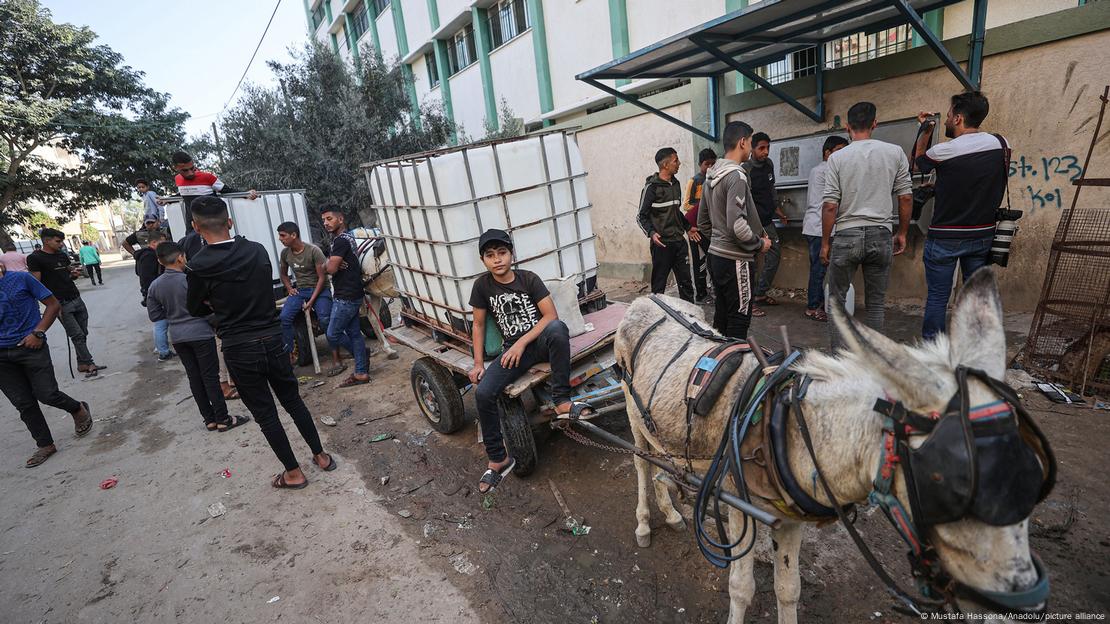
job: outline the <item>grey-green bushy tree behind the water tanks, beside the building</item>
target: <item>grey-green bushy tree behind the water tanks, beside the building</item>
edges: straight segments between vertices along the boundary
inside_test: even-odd
[[[214,159],[213,137],[194,145],[194,155],[222,161],[232,185],[305,189],[310,205],[354,215],[370,203],[360,164],[434,149],[451,135],[441,108],[412,113],[400,66],[366,50],[351,66],[312,42],[291,62],[269,66],[276,85],[249,85],[222,118],[222,158]]]

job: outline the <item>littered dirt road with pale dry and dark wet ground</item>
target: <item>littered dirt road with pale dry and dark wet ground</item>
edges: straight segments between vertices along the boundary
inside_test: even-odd
[[[98,360],[111,376],[65,381],[97,409],[93,435],[74,441],[68,417],[51,414],[61,452],[42,467],[22,462],[33,444],[13,410],[0,405],[0,614],[11,622],[723,622],[723,571],[693,536],[653,511],[653,544],[635,545],[635,476],[627,455],[579,446],[562,435],[539,445],[541,466],[495,496],[474,491],[482,466],[476,431],[433,433],[408,386],[415,355],[371,359],[371,386],[302,385],[313,413],[331,415],[325,445],[336,473],[309,469],[312,485],[274,492],[280,466],[253,424],[209,434],[188,401],[180,364],[155,364],[134,276],[107,275],[85,289]],[[609,284],[614,298],[636,285]],[[774,343],[777,324],[796,344],[820,344],[824,325],[800,304],[768,310],[754,331]],[[918,322],[892,314],[908,339]],[[1028,323],[1028,321],[1026,321]],[[1020,322],[1012,336],[1020,340]],[[51,331],[59,379],[68,380],[60,328]],[[301,370],[300,374],[311,375]],[[1108,412],[1050,407],[1026,393],[1060,456],[1060,484],[1035,513],[1032,544],[1052,574],[1057,612],[1110,608],[1110,486],[1102,457]],[[473,401],[465,397],[472,411]],[[242,410],[236,403],[234,409]],[[620,417],[602,424],[627,436]],[[292,427],[289,427],[292,431]],[[371,442],[379,434],[393,439]],[[294,449],[306,460],[303,443]],[[232,477],[219,472],[230,467]],[[117,475],[120,484],[97,484]],[[563,527],[551,484],[591,526]],[[208,505],[226,514],[210,519]],[[1071,519],[1069,521],[1069,519]],[[858,526],[906,582],[904,547],[880,514]],[[756,564],[750,621],[774,622],[770,566]],[[273,596],[280,600],[270,603]],[[803,547],[800,617],[806,622],[904,622],[847,535],[814,529]],[[878,615],[876,615],[878,614]]]

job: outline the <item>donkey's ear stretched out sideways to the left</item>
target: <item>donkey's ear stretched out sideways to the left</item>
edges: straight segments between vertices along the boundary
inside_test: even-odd
[[[831,301],[833,322],[848,350],[862,360],[892,394],[911,405],[930,405],[946,389],[937,374],[908,349],[881,333],[856,323],[839,301]]]

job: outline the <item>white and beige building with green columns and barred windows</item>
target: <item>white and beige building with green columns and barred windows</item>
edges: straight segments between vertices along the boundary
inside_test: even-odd
[[[413,105],[443,102],[470,138],[496,124],[505,101],[528,131],[577,130],[589,171],[598,258],[603,274],[642,279],[647,242],[635,224],[644,178],[658,148],[678,150],[686,178],[695,154],[712,144],[688,129],[624,103],[576,79],[726,13],[751,9],[747,0],[304,0],[309,32],[343,58],[367,50],[398,59],[411,72]],[[924,16],[925,23],[957,61],[969,58],[971,0]],[[1048,248],[1061,211],[1069,205],[1070,179],[1086,154],[1096,92],[1110,81],[1110,2],[1084,0],[993,0],[986,11],[982,90],[991,98],[986,128],[1015,147],[1010,192],[1026,211],[1010,266],[1002,271],[1006,303],[1036,304]],[[813,107],[817,48],[786,54],[758,74]],[[907,120],[918,110],[946,110],[948,95],[962,89],[921,38],[890,26],[824,43],[824,100],[819,122],[751,80],[729,73],[719,99],[710,102],[704,78],[608,80],[605,85],[696,128],[743,119],[773,141],[841,127],[849,105],[877,104],[880,122]],[[710,107],[715,103],[716,107]],[[908,145],[907,145],[908,148]],[[1110,174],[1110,141],[1092,163]],[[1093,164],[1092,164],[1093,168]],[[1035,177],[1033,172],[1040,175]],[[1047,175],[1047,179],[1046,179]],[[1092,201],[1096,193],[1087,195]],[[797,224],[784,234],[777,284],[805,288],[806,248]],[[921,299],[922,239],[915,235],[896,261],[891,295]]]

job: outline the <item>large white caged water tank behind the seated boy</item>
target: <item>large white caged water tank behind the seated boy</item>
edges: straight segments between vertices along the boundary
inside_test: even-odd
[[[597,275],[586,171],[574,138],[551,132],[363,165],[397,289],[410,312],[465,332],[477,240],[513,236],[516,268],[544,280]]]

